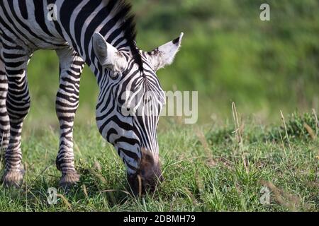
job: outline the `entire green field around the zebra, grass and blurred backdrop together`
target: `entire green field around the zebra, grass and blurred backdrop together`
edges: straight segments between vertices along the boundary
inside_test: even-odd
[[[259,18],[264,3],[270,21]],[[21,144],[26,177],[21,189],[0,185],[0,211],[318,212],[318,8],[317,0],[133,1],[141,49],[185,34],[172,66],[157,73],[162,88],[198,91],[196,124],[159,121],[165,180],[145,198],[130,195],[123,163],[96,129],[99,90],[86,67],[74,128],[81,181],[47,203],[60,179],[59,64],[54,51],[35,52]]]

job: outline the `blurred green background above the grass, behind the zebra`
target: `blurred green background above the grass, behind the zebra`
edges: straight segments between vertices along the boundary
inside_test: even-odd
[[[270,5],[270,21],[259,19],[263,3]],[[318,111],[318,0],[135,0],[133,10],[143,50],[185,33],[174,64],[157,75],[164,90],[198,91],[198,124],[230,119],[232,101],[240,113],[267,123],[280,120],[280,109]],[[34,54],[28,80],[29,129],[56,127],[55,52]],[[94,123],[97,95],[86,68],[77,124]]]

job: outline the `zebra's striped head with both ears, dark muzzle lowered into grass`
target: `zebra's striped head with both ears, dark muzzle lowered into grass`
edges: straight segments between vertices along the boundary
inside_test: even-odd
[[[92,39],[103,71],[98,79],[96,123],[125,163],[135,194],[154,191],[162,180],[157,124],[166,97],[156,71],[172,64],[182,37],[183,33],[152,52],[117,49],[99,33]]]

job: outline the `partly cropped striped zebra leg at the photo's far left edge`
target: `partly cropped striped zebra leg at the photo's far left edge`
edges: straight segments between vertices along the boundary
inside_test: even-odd
[[[0,54],[0,162],[2,162],[2,156],[9,144],[10,122],[8,112],[6,111],[7,92],[8,81],[6,79],[6,69]]]

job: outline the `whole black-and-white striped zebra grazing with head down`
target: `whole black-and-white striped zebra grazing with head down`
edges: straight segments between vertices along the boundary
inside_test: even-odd
[[[132,5],[125,0],[0,1],[0,130],[6,186],[23,182],[21,131],[30,108],[28,62],[36,50],[50,49],[60,60],[55,102],[60,123],[59,185],[66,188],[79,182],[72,133],[86,64],[99,86],[99,133],[123,160],[133,193],[155,190],[163,179],[157,124],[166,101],[156,72],[172,64],[184,34],[145,52],[135,42],[135,26]],[[139,104],[133,105],[133,97]],[[145,114],[147,103],[156,114]],[[142,114],[136,114],[138,109]]]

